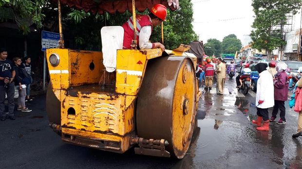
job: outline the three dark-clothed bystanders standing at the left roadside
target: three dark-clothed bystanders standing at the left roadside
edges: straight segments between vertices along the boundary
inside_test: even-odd
[[[31,77],[31,58],[24,58],[22,64],[20,57],[14,57],[13,62],[7,59],[7,50],[0,49],[0,120],[10,118],[15,120],[15,89],[19,91],[18,108],[21,112],[31,112],[32,110],[25,106],[25,101],[30,98]],[[4,101],[7,96],[8,112],[5,112]]]

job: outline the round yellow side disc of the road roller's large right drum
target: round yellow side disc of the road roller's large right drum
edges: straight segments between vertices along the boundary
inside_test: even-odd
[[[174,154],[183,157],[189,149],[196,116],[195,71],[189,60],[184,60],[174,88],[172,115],[172,142]],[[193,83],[193,85],[192,85]]]

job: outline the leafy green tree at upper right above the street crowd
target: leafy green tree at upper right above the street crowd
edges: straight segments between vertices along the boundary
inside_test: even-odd
[[[252,47],[270,54],[270,51],[285,45],[282,28],[273,28],[285,24],[286,14],[296,14],[301,5],[302,0],[253,0],[255,20],[252,25],[254,30],[250,34]]]

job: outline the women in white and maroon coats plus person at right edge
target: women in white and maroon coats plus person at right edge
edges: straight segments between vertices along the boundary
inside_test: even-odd
[[[270,62],[258,63],[255,66],[259,72],[259,79],[257,81],[256,92],[256,107],[257,107],[257,119],[252,120],[253,124],[257,125],[257,130],[268,131],[269,122],[276,121],[278,111],[280,110],[280,119],[277,124],[285,124],[285,105],[287,101],[289,77],[286,73],[287,65],[284,62],[276,63]],[[275,70],[274,70],[275,69]],[[297,83],[298,91],[302,87],[302,79]],[[298,97],[300,96],[300,99]],[[299,102],[300,101],[300,102]],[[297,94],[298,106],[297,112],[299,112],[298,118],[298,131],[293,137],[299,137],[302,135],[302,94]],[[268,108],[273,107],[271,118],[268,117]]]

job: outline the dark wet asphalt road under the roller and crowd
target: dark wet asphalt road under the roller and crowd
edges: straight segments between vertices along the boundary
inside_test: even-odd
[[[227,80],[224,95],[204,92],[187,155],[182,160],[99,151],[63,143],[48,127],[45,95],[27,106],[32,112],[16,112],[16,120],[0,121],[0,169],[301,169],[302,138],[292,138],[298,114],[286,105],[286,124],[270,123],[257,131],[255,92],[243,95],[235,79]],[[203,88],[201,88],[203,90]],[[272,109],[269,109],[271,115]],[[279,114],[277,115],[279,116]]]

